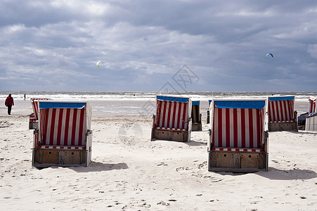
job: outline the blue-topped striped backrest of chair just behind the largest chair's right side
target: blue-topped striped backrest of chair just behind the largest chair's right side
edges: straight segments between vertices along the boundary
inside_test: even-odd
[[[269,122],[292,121],[295,96],[269,96]]]

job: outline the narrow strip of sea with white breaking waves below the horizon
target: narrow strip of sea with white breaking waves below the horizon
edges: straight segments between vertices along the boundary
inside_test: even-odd
[[[295,96],[295,101],[308,101],[317,91],[0,91],[0,98],[12,94],[15,99],[51,98],[61,101],[154,101],[160,94],[186,96],[197,101],[212,98],[266,98],[266,96]]]

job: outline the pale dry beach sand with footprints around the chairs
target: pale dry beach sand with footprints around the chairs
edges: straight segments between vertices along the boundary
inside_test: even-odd
[[[151,142],[150,116],[108,116],[103,103],[91,103],[91,165],[43,170],[31,167],[30,101],[11,116],[1,106],[0,210],[317,210],[317,132],[271,132],[269,172],[215,173],[205,108],[190,143]]]

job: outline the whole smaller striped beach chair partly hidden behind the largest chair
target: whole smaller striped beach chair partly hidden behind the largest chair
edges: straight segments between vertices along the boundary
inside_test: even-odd
[[[298,131],[295,96],[269,96],[269,132]]]

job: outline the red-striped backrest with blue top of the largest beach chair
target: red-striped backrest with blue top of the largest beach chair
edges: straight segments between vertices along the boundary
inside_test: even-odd
[[[264,141],[265,113],[265,100],[212,101],[212,146],[260,147]]]

